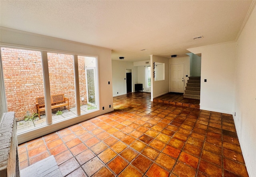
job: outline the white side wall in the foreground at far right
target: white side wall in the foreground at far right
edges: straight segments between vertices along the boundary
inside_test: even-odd
[[[250,177],[256,177],[256,8],[236,42],[234,122]]]

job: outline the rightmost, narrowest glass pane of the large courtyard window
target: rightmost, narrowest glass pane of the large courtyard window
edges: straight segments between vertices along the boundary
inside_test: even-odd
[[[80,111],[86,114],[98,110],[97,58],[78,55]]]

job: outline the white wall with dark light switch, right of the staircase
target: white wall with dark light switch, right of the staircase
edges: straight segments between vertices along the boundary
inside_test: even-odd
[[[235,45],[230,42],[188,49],[202,53],[200,109],[233,114]]]

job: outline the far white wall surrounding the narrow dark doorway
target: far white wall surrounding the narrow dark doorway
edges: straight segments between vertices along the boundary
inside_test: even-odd
[[[113,96],[126,94],[126,69],[133,70],[133,62],[112,60]],[[132,71],[132,91],[134,90],[134,72]],[[118,92],[118,93],[117,93]]]

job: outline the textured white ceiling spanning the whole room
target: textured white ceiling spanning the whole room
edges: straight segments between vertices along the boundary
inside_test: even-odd
[[[112,49],[112,59],[186,56],[236,40],[252,0],[0,0],[0,26]],[[192,37],[204,38],[193,40]],[[147,49],[147,51],[140,51]]]

